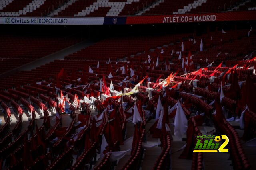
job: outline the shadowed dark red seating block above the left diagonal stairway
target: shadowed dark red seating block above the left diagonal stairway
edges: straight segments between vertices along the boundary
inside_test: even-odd
[[[22,1],[23,2],[23,1]],[[73,44],[58,37],[23,37],[1,35],[0,73],[52,54]],[[75,42],[74,42],[75,43]]]

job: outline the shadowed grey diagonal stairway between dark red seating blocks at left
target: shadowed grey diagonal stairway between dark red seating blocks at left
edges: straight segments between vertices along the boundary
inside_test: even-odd
[[[26,63],[22,66],[12,69],[12,70],[8,70],[7,72],[0,74],[0,78],[10,76],[10,75],[15,74],[22,70],[32,70],[33,68],[40,67],[41,65],[49,63],[56,59],[62,59],[67,55],[70,55],[76,51],[80,51],[81,49],[84,49],[85,47],[88,47],[89,45],[92,45],[93,43],[94,43],[93,41],[82,41],[80,43],[74,44],[70,47],[62,49],[60,51],[57,51],[55,53],[52,53],[52,54],[42,57],[40,59],[36,59],[30,63]]]

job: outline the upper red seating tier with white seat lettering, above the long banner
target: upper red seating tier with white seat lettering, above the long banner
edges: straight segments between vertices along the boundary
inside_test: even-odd
[[[0,16],[134,16],[255,10],[252,0],[4,0]]]

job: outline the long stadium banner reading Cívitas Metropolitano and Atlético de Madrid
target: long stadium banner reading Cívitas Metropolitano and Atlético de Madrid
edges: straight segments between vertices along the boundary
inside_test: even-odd
[[[256,10],[198,14],[170,14],[128,17],[0,17],[0,24],[28,25],[132,25],[256,20]]]

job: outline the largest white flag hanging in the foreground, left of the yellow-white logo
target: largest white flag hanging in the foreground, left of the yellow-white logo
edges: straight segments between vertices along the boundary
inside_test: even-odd
[[[174,135],[182,137],[182,135],[186,132],[187,128],[188,120],[180,104],[180,101],[178,101],[176,115],[174,118]]]

